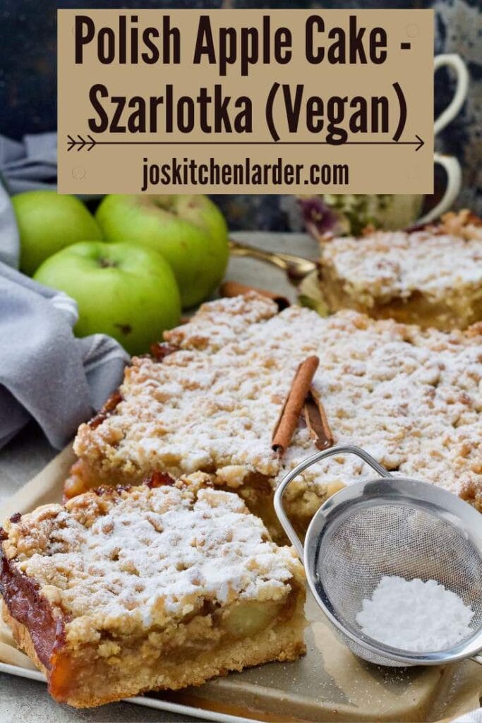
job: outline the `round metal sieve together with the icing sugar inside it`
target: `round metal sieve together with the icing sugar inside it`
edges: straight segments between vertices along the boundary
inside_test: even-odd
[[[332,495],[304,544],[283,508],[288,484],[332,455],[354,454],[379,478]],[[482,663],[482,518],[444,489],[392,476],[352,445],[307,458],[275,492],[319,607],[353,653],[381,665]]]

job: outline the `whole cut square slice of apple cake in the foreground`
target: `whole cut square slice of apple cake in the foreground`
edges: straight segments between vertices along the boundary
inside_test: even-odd
[[[57,701],[97,706],[304,653],[301,562],[204,478],[157,473],[0,529],[4,620]]]

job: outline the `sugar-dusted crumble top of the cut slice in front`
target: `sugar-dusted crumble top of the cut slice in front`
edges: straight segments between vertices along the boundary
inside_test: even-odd
[[[90,492],[23,515],[8,544],[72,616],[71,631],[84,616],[94,630],[142,628],[206,602],[283,599],[301,576],[291,549],[270,541],[238,495],[209,487]]]

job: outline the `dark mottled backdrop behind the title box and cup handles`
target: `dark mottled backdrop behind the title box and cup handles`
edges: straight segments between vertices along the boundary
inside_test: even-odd
[[[56,9],[68,8],[434,8],[436,53],[459,53],[471,84],[460,116],[437,137],[436,149],[457,155],[464,170],[458,205],[482,215],[482,0],[343,2],[246,0],[0,0],[0,134],[56,129]],[[435,113],[447,105],[452,80],[442,69],[435,80]],[[436,186],[443,178],[436,176]],[[218,196],[231,228],[284,229],[292,223],[289,202],[277,196]]]

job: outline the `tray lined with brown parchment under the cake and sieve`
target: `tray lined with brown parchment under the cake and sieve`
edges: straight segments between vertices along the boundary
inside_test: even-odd
[[[65,448],[25,487],[4,502],[0,520],[58,502],[74,461]],[[308,652],[292,663],[272,663],[231,673],[199,688],[129,699],[150,708],[224,723],[241,721],[449,720],[479,706],[480,667],[470,661],[446,667],[393,669],[370,665],[343,646],[313,599],[306,604]],[[0,623],[0,671],[45,680],[14,646]]]

